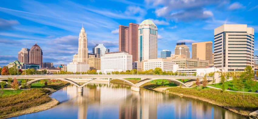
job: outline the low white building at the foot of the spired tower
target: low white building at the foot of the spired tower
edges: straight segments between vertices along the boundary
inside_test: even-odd
[[[90,70],[89,64],[82,62],[71,62],[67,64],[67,72],[87,72]]]

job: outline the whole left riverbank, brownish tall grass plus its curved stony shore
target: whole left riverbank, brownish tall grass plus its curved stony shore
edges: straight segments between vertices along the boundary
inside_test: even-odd
[[[8,96],[1,97],[1,98],[6,98],[5,100],[9,101],[10,104],[6,105],[6,104],[0,103],[0,108],[1,108],[0,118],[16,117],[23,114],[30,114],[30,113],[54,108],[56,105],[59,104],[59,101],[57,101],[54,98],[50,98],[48,95],[68,85],[70,85],[70,83],[67,83],[67,82],[56,83],[56,84],[54,83],[54,84],[51,84],[51,86],[46,86],[46,88],[32,88],[30,90],[21,92],[20,94],[13,95],[16,98],[8,97]],[[33,90],[36,90],[36,91],[33,91]],[[25,97],[26,99],[23,99]],[[12,98],[12,99],[8,100],[7,98]],[[12,103],[11,101],[15,103]],[[21,105],[21,106],[17,107],[17,105]]]

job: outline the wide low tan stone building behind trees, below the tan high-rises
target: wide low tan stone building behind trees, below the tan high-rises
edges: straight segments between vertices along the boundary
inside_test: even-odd
[[[171,59],[172,62],[178,64],[179,68],[187,68],[194,66],[208,66],[209,61],[201,60],[201,59],[192,59],[187,58],[185,55],[174,55],[173,57],[167,57],[167,59]]]

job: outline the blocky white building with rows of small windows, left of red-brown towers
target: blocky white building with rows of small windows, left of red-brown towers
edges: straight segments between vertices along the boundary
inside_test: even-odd
[[[132,55],[126,51],[109,52],[101,57],[101,72],[111,73],[113,71],[132,70]],[[100,72],[98,71],[98,72]]]

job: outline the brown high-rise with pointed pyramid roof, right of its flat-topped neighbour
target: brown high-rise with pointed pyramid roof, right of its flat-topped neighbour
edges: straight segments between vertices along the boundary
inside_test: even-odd
[[[43,66],[43,53],[42,49],[37,45],[33,45],[29,50],[29,64],[37,64]]]

